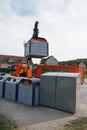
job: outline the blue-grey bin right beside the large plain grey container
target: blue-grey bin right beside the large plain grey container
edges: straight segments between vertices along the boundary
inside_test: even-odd
[[[38,105],[39,87],[40,80],[37,78],[21,79],[18,85],[18,102],[28,106]]]

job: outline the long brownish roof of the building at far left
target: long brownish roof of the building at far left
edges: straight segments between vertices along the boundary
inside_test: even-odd
[[[20,63],[26,60],[23,56],[0,55],[0,63]]]

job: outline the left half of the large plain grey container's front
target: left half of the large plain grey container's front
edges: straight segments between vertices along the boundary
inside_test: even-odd
[[[55,75],[43,74],[40,79],[40,104],[55,107],[56,95],[56,77]]]

